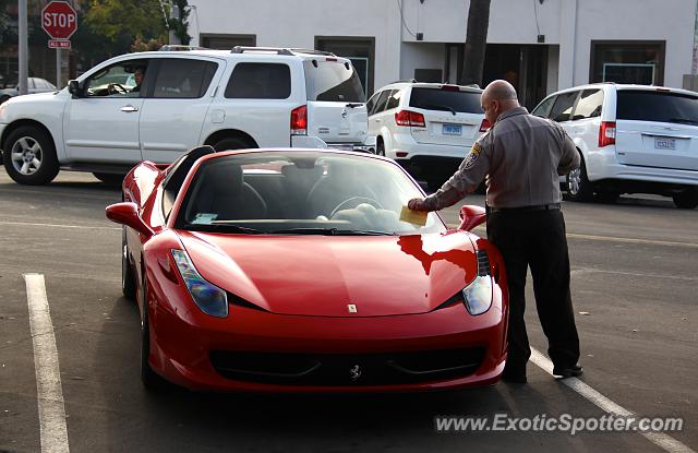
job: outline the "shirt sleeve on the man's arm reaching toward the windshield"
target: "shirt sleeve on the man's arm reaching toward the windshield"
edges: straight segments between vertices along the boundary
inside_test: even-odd
[[[458,170],[436,191],[424,199],[429,211],[438,211],[452,206],[474,191],[490,170],[492,139],[490,133],[482,135],[458,167]]]

